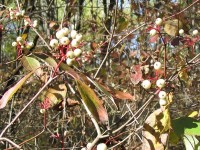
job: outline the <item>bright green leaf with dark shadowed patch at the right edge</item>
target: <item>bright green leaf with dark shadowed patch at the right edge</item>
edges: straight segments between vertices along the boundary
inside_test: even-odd
[[[190,117],[181,117],[173,120],[172,128],[179,137],[184,134],[200,136],[200,121]]]

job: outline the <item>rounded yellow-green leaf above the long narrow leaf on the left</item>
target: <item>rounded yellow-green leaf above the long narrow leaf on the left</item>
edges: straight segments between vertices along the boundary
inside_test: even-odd
[[[40,62],[37,59],[23,56],[21,62],[27,71],[35,71],[36,75],[42,75],[43,71],[41,69]]]

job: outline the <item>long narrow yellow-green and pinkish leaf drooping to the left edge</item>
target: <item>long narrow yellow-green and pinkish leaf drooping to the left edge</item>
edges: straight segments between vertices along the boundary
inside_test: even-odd
[[[24,76],[17,84],[15,84],[12,88],[6,91],[3,97],[0,100],[0,109],[4,108],[8,101],[13,97],[13,95],[18,91],[20,87],[24,84],[24,82],[33,74],[33,72]]]

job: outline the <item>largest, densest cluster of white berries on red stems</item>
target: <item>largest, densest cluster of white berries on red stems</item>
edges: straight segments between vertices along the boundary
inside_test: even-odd
[[[66,27],[56,32],[56,38],[51,39],[49,45],[54,50],[59,50],[59,54],[55,54],[56,58],[61,61],[66,60],[66,63],[71,66],[73,62],[82,54],[80,47],[82,35],[76,30],[70,30]]]

